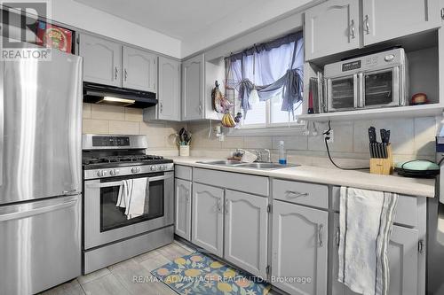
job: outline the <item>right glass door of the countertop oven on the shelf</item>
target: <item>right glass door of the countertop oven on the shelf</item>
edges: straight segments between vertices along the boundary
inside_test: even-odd
[[[360,107],[400,105],[400,67],[393,66],[362,74]]]

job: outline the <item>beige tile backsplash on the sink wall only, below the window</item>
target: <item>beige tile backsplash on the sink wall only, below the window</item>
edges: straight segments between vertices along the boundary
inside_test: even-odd
[[[334,130],[334,143],[329,144],[334,159],[339,163],[361,162],[368,165],[368,128],[374,126],[391,130],[391,142],[395,161],[407,159],[434,159],[434,136],[440,117],[396,120],[357,120],[354,122],[331,122]],[[216,123],[213,123],[213,126]],[[319,133],[328,127],[317,124]],[[219,142],[212,136],[209,122],[192,123],[188,126],[193,133],[192,155],[207,157],[227,157],[236,148],[270,149],[276,159],[279,141],[285,142],[289,160],[305,165],[330,165],[323,136],[306,136],[300,132],[296,136],[230,136]],[[379,135],[378,135],[379,138]],[[350,160],[352,159],[352,160]],[[362,160],[362,161],[361,161]],[[352,164],[352,165],[353,165]]]

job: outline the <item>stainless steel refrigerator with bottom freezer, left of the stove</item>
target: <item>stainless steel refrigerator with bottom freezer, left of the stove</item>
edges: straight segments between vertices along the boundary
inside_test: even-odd
[[[0,62],[0,294],[81,274],[82,58]]]

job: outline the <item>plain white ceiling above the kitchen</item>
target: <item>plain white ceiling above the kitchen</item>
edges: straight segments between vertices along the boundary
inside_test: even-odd
[[[184,56],[276,19],[310,0],[74,0],[182,42]],[[319,0],[318,0],[319,1]]]

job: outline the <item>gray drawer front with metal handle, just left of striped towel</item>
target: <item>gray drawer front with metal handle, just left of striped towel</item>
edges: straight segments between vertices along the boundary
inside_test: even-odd
[[[329,208],[329,187],[306,182],[273,180],[273,198],[300,205]]]

